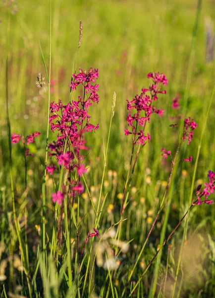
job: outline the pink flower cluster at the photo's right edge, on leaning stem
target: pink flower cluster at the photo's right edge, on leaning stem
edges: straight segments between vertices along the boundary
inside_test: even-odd
[[[202,205],[202,203],[214,204],[214,201],[208,200],[208,197],[215,191],[215,172],[208,171],[208,178],[209,183],[205,183],[205,188],[203,189],[203,191],[200,191],[202,187],[201,184],[197,187],[197,201],[193,202],[193,205]],[[205,196],[206,200],[201,201],[201,197],[203,196]]]

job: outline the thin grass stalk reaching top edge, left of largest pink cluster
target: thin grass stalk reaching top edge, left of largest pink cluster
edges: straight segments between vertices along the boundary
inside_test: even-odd
[[[44,264],[45,262],[45,256],[46,256],[46,168],[47,168],[47,159],[48,159],[48,142],[49,142],[49,118],[50,118],[50,82],[51,82],[51,58],[52,58],[52,0],[50,0],[50,59],[49,59],[49,75],[47,72],[47,68],[46,68],[46,63],[45,63],[45,59],[44,59],[44,55],[43,55],[43,51],[41,48],[41,44],[40,44],[40,49],[41,49],[41,54],[42,54],[42,59],[43,59],[43,63],[44,63],[44,67],[45,67],[45,71],[46,71],[46,75],[47,75],[47,80],[48,80],[48,84],[49,84],[49,88],[48,88],[48,116],[47,116],[47,135],[46,135],[46,156],[45,156],[45,165],[44,165],[44,169],[43,169],[43,184],[42,184],[42,196],[43,196],[43,209],[42,209],[42,213],[43,213],[43,217],[42,217],[42,254],[43,254],[43,262]]]

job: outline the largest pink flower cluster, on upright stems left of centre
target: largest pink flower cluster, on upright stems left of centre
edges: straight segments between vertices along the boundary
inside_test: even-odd
[[[77,96],[77,100],[72,100],[66,105],[59,100],[58,103],[52,102],[50,110],[51,130],[57,130],[57,140],[49,144],[50,156],[55,156],[59,165],[68,168],[69,171],[77,170],[78,176],[82,176],[87,171],[83,162],[83,155],[80,154],[81,149],[88,149],[85,146],[86,141],[83,138],[85,132],[96,131],[96,126],[90,123],[91,116],[88,109],[92,103],[99,102],[99,85],[93,84],[98,79],[99,70],[90,68],[89,72],[79,69],[79,74],[73,74],[71,90],[75,90],[78,85],[82,85],[83,95]],[[66,148],[65,147],[66,144]],[[75,155],[74,155],[75,154]],[[75,158],[76,156],[76,158]],[[53,174],[56,167],[50,165],[47,170]],[[83,186],[79,181],[70,179],[72,190],[78,193],[83,192]]]

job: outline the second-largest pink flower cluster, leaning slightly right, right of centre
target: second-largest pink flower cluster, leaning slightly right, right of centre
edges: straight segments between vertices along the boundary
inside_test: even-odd
[[[147,77],[153,79],[153,83],[150,84],[149,88],[142,88],[140,95],[136,94],[131,101],[127,100],[128,116],[126,120],[131,130],[126,129],[124,132],[126,136],[133,135],[134,144],[144,145],[147,140],[149,141],[151,139],[149,134],[145,135],[144,129],[137,130],[138,125],[144,127],[147,121],[150,122],[150,115],[152,113],[157,113],[159,117],[161,117],[164,112],[164,110],[152,106],[152,102],[153,100],[158,100],[159,93],[166,94],[166,90],[161,90],[160,84],[165,86],[168,80],[164,74],[160,73],[149,73]],[[147,92],[150,95],[146,94]],[[130,112],[132,109],[136,110],[133,115]],[[141,112],[143,112],[144,115],[142,115]]]

